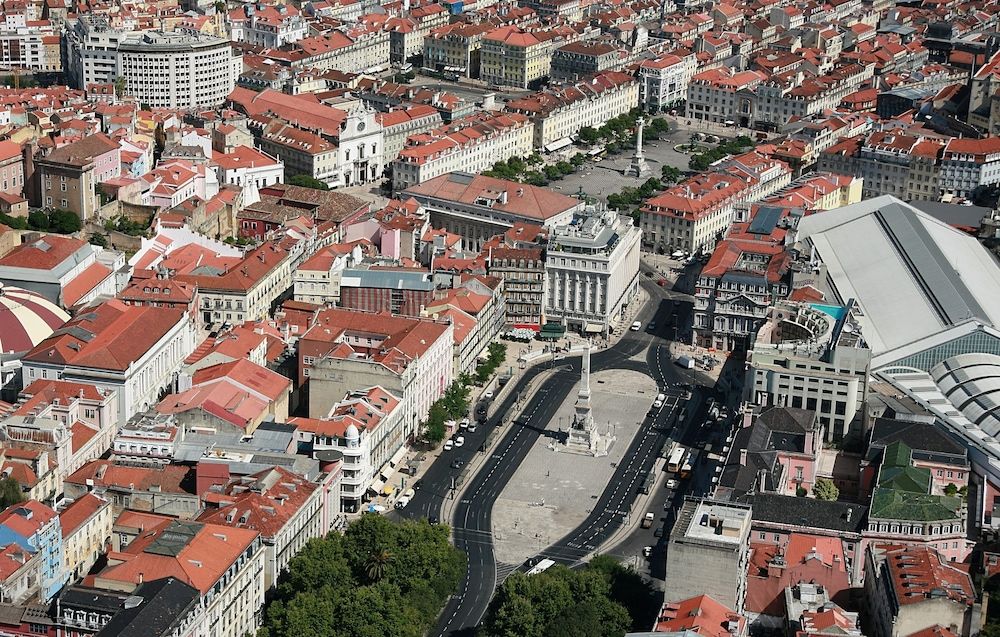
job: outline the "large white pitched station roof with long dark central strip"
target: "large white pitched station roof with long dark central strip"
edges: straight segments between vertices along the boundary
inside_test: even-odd
[[[969,319],[1000,325],[1000,266],[974,238],[895,197],[802,219],[837,301],[855,299],[876,356]]]

